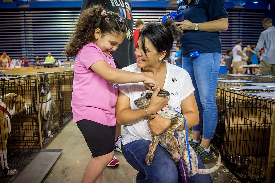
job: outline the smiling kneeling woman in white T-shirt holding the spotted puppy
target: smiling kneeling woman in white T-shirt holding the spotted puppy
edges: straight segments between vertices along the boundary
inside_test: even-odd
[[[145,109],[138,109],[134,100],[147,90],[143,83],[121,84],[116,103],[116,120],[123,127],[121,149],[127,162],[139,173],[137,183],[177,183],[178,171],[176,164],[168,152],[160,145],[155,150],[152,164],[145,164],[145,157],[149,151],[151,135],[159,135],[166,131],[170,120],[155,115],[160,109],[168,105],[184,114],[187,128],[199,123],[199,112],[194,97],[194,87],[188,72],[164,60],[171,54],[173,40],[180,40],[183,32],[173,21],[166,23],[150,22],[139,32],[137,41],[137,63],[125,67],[124,70],[142,73],[155,78],[159,86],[170,92],[170,97],[162,98],[155,90],[150,105]],[[169,100],[170,98],[170,100]],[[169,101],[168,101],[169,100]],[[180,130],[184,130],[184,123]],[[150,132],[150,133],[148,133]],[[205,169],[200,158],[199,168]],[[195,175],[195,182],[212,182],[209,175]]]

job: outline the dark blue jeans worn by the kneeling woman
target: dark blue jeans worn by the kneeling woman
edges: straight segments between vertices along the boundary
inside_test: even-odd
[[[176,164],[161,145],[156,148],[153,162],[150,165],[145,164],[150,143],[149,140],[136,140],[126,145],[121,144],[123,156],[134,169],[139,171],[137,183],[178,183]],[[199,157],[198,164],[199,169],[205,169]],[[195,183],[212,183],[209,174],[196,174],[194,180]]]

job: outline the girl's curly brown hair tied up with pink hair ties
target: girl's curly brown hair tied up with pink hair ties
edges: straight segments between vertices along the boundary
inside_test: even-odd
[[[106,34],[126,34],[124,21],[121,16],[112,11],[106,11],[101,15],[103,6],[94,5],[84,10],[78,19],[75,30],[72,33],[70,42],[65,47],[66,57],[75,57],[84,45],[95,40],[95,29],[99,28],[102,36]],[[108,17],[108,19],[106,19]]]

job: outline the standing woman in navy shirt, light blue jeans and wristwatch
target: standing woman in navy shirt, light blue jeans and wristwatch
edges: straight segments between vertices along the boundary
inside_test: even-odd
[[[182,12],[185,20],[176,22],[184,31],[181,37],[182,67],[191,76],[200,113],[200,122],[192,127],[193,138],[189,142],[202,160],[209,160],[213,158],[209,143],[218,122],[215,94],[222,59],[219,31],[228,29],[228,14],[222,0],[183,0],[177,7],[177,13]],[[200,56],[190,58],[189,53],[195,51]]]

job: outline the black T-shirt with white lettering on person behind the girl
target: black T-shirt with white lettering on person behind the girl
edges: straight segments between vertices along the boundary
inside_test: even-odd
[[[118,1],[121,2],[122,8]],[[124,2],[126,5],[126,11],[125,11]],[[93,4],[102,4],[104,8],[106,8],[106,11],[109,10],[109,11],[119,13],[122,19],[124,19],[124,15],[122,12],[123,10],[127,18],[128,26],[133,32],[134,21],[133,21],[133,15],[132,15],[132,6],[129,0],[83,0],[81,11],[85,10],[86,8],[88,8]],[[119,69],[123,67],[127,67],[133,63],[136,63],[134,41],[128,40],[127,38],[125,38],[121,43],[121,45],[119,45],[118,49],[116,51],[112,51],[111,55],[115,60],[116,68],[119,68]]]

